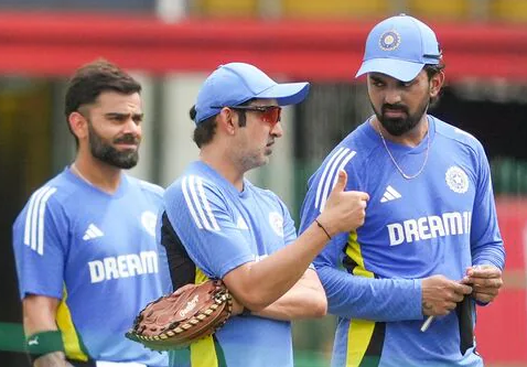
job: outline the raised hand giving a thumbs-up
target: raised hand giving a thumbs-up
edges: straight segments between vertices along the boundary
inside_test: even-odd
[[[347,174],[338,172],[338,181],[333,187],[324,211],[319,216],[319,222],[324,226],[330,236],[341,231],[355,230],[364,224],[368,194],[359,191],[344,191]]]

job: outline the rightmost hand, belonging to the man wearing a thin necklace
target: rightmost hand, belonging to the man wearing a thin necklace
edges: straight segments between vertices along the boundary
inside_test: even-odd
[[[503,285],[502,270],[492,265],[466,268],[466,277],[461,282],[473,288],[472,296],[482,303],[492,302]]]

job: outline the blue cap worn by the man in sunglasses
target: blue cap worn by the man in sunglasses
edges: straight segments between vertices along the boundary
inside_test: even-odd
[[[219,114],[222,107],[238,106],[252,98],[276,99],[279,106],[295,105],[308,96],[309,83],[272,80],[246,63],[219,65],[203,83],[196,100],[196,125]]]

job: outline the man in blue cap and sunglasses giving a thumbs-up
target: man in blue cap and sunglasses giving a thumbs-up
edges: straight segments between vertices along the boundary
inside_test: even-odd
[[[309,269],[329,239],[362,225],[368,196],[337,184],[297,238],[286,205],[244,174],[268,162],[282,136],[280,106],[302,101],[308,83],[277,84],[245,63],[219,66],[195,104],[200,160],[166,190],[160,215],[174,289],[222,279],[235,316],[213,337],[171,353],[171,366],[293,366],[293,319],[325,315],[326,299]]]

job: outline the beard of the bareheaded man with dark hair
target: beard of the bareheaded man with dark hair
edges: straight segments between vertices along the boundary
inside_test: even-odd
[[[131,169],[137,165],[139,161],[138,150],[125,150],[119,151],[114,148],[111,144],[107,143],[106,140],[95,131],[90,121],[88,121],[88,131],[89,131],[89,149],[92,155],[108,163],[109,165],[119,168],[119,169]],[[132,136],[131,133],[123,134],[114,140],[114,143],[136,143],[139,148],[140,139]]]

